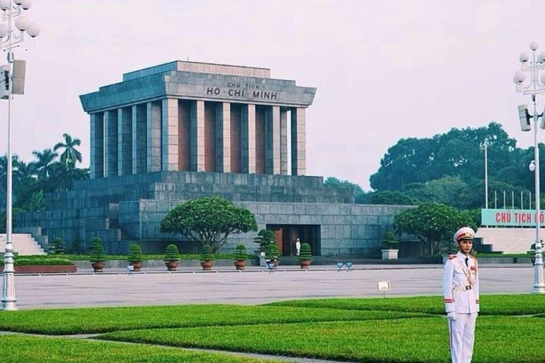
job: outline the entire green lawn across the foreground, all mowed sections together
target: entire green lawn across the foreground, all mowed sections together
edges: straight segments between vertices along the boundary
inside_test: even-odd
[[[481,306],[473,363],[545,362],[545,296],[484,295]],[[440,296],[0,311],[0,330],[105,333],[101,341],[0,335],[0,357],[7,357],[1,362],[260,362],[116,342],[124,341],[357,362],[446,363],[444,315]]]

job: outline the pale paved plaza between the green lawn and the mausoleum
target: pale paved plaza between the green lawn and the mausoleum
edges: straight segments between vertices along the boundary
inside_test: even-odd
[[[318,270],[318,268],[320,268]],[[390,281],[390,296],[440,295],[440,265],[395,267],[365,265],[352,272],[324,267],[273,273],[180,272],[168,274],[74,274],[16,277],[18,307],[170,305],[180,303],[258,304],[295,298],[381,296],[377,281]],[[480,268],[482,294],[532,291],[531,266]]]

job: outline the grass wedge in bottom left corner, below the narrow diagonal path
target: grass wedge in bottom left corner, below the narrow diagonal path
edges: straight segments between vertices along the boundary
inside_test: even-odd
[[[0,335],[2,363],[56,362],[185,362],[265,363],[278,362],[233,354],[195,352],[169,347],[125,345],[54,337]]]

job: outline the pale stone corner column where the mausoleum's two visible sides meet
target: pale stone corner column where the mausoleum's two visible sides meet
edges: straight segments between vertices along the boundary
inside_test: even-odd
[[[178,170],[178,100],[163,99],[163,171]]]

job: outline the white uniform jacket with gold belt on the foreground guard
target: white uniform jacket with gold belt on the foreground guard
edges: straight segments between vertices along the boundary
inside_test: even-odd
[[[479,312],[479,273],[477,259],[458,252],[450,257],[443,269],[443,297],[447,313],[458,314]]]

